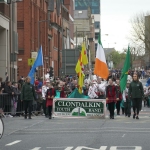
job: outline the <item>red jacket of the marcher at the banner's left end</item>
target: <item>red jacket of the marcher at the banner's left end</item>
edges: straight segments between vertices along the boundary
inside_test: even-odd
[[[52,97],[52,96],[56,96],[56,91],[54,88],[51,88],[51,89],[48,89],[47,92],[46,92],[46,107],[48,106],[52,106],[53,105],[53,99],[52,98],[49,98]]]

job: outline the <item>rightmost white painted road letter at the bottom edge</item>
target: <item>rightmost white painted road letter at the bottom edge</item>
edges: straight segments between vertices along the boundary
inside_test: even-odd
[[[132,149],[131,149],[132,148]],[[110,150],[142,150],[140,146],[112,146]]]

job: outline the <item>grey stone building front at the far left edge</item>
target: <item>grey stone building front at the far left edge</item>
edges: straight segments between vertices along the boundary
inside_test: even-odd
[[[7,4],[7,0],[0,0],[0,77],[17,80],[17,3]]]

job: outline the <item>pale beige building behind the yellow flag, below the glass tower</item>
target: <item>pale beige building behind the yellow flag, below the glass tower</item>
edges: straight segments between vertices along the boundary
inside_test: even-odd
[[[95,61],[95,28],[94,17],[91,15],[91,9],[74,11],[75,29],[74,41],[77,47],[85,42],[89,56],[89,67],[92,68],[92,62]]]

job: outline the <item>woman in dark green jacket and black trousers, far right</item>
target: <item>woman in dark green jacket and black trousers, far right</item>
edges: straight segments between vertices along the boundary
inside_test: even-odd
[[[139,119],[139,111],[142,105],[142,98],[144,97],[143,85],[139,81],[138,75],[133,74],[133,81],[129,85],[129,98],[132,100],[133,106],[133,119]]]

